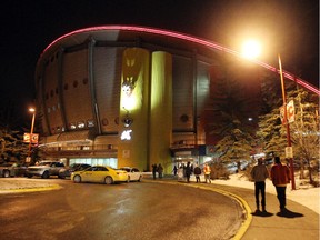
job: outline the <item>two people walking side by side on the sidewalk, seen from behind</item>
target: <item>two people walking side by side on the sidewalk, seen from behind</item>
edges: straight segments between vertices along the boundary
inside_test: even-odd
[[[273,186],[276,187],[277,198],[279,200],[280,212],[286,212],[286,189],[287,184],[290,182],[290,170],[287,164],[282,164],[279,157],[274,158],[274,164],[271,167],[270,173],[267,167],[263,164],[263,159],[258,159],[258,164],[251,170],[251,177],[254,181],[254,197],[257,211],[260,211],[260,203],[262,212],[266,210],[266,179],[270,177]],[[259,199],[261,194],[261,201]]]

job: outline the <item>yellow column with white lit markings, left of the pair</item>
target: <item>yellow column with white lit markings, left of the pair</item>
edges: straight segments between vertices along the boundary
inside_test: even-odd
[[[140,171],[148,168],[149,69],[149,51],[130,48],[123,52],[119,134],[124,137],[127,131],[128,139],[119,139],[118,167],[131,166]],[[124,127],[124,119],[132,123]]]

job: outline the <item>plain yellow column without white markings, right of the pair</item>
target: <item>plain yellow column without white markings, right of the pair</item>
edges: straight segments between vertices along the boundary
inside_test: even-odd
[[[164,173],[172,170],[172,57],[162,51],[152,53],[150,90],[149,159],[161,163]]]

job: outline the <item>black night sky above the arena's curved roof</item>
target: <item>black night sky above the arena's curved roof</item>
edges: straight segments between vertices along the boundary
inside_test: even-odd
[[[259,60],[277,66],[280,53],[284,70],[319,86],[318,0],[7,0],[0,20],[0,101],[21,112],[34,97],[43,49],[64,33],[103,24],[173,30],[236,51],[254,38]]]

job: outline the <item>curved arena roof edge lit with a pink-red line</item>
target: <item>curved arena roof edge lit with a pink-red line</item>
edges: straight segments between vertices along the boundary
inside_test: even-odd
[[[130,32],[130,34],[126,34],[126,32]],[[136,36],[132,33],[137,33]],[[107,34],[108,33],[108,34]],[[147,27],[137,27],[137,26],[100,26],[100,27],[92,27],[92,28],[86,28],[86,29],[80,29],[80,30],[76,30],[72,32],[69,32],[58,39],[56,39],[53,42],[51,42],[42,52],[41,57],[46,56],[47,52],[51,52],[56,50],[56,46],[63,43],[63,46],[68,47],[68,46],[73,46],[74,43],[82,43],[83,41],[86,41],[86,39],[93,37],[94,40],[99,40],[100,38],[103,39],[106,41],[110,40],[110,41],[114,41],[114,40],[121,40],[121,41],[126,41],[126,40],[131,40],[132,41],[132,37],[137,39],[137,41],[139,41],[139,36],[143,34],[143,38],[151,38],[152,41],[161,41],[161,43],[163,42],[170,42],[170,46],[172,47],[172,44],[177,44],[177,47],[179,46],[181,48],[181,46],[183,47],[183,44],[186,44],[186,42],[188,42],[189,44],[194,44],[194,47],[197,46],[197,50],[201,51],[202,49],[210,49],[213,50],[213,52],[226,52],[229,54],[232,54],[237,58],[243,58],[241,56],[241,53],[231,50],[229,48],[226,48],[219,43],[209,41],[209,40],[204,40],[204,39],[200,39],[197,37],[192,37],[192,36],[188,36],[184,33],[179,33],[179,32],[174,32],[174,31],[168,31],[168,30],[161,30],[161,29],[154,29],[154,28],[147,28]],[[160,38],[161,37],[161,38]],[[172,40],[172,41],[171,41]],[[174,41],[173,41],[174,40]],[[168,43],[169,44],[169,43]],[[190,46],[189,46],[190,47]],[[41,59],[40,57],[40,59]],[[277,69],[273,66],[270,66],[266,62],[262,61],[258,61],[258,60],[250,60],[251,62],[261,66],[270,71],[273,71],[278,74],[280,74],[279,69]],[[286,79],[296,81],[298,84],[300,84],[301,87],[310,90],[311,92],[320,96],[320,90],[316,87],[313,87],[312,84],[310,84],[309,82],[307,82],[306,80],[296,77],[293,73],[290,73],[288,71],[282,71],[283,72],[283,77]]]

